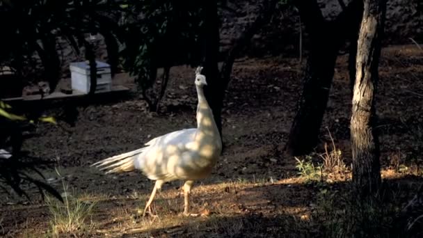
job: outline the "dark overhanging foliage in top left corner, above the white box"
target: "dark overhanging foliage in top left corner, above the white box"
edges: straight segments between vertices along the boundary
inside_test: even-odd
[[[108,45],[109,58],[115,58],[118,24],[114,18],[120,13],[115,1],[1,1],[0,65],[8,65],[18,74],[24,68],[35,66],[38,56],[49,81],[51,91],[60,79],[61,63],[57,51],[57,40],[65,38],[79,54],[86,45],[86,33],[102,33]]]

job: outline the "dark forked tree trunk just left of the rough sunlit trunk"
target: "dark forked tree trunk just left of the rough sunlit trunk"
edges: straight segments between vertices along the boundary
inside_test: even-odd
[[[319,142],[337,53],[348,32],[361,18],[362,1],[354,0],[333,22],[326,22],[317,1],[296,1],[300,17],[310,35],[310,54],[303,79],[298,111],[285,150],[291,155],[310,153]]]

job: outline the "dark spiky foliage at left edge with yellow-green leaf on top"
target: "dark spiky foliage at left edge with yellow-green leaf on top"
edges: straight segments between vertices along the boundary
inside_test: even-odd
[[[45,177],[40,172],[39,168],[45,168],[50,163],[42,161],[38,158],[31,157],[28,153],[22,152],[22,127],[26,124],[34,124],[36,122],[49,122],[56,124],[56,120],[51,117],[40,117],[37,120],[27,119],[25,116],[18,116],[10,112],[12,107],[4,102],[0,102],[0,129],[1,141],[0,148],[6,148],[6,141],[10,141],[12,152],[10,154],[3,150],[0,157],[0,188],[8,193],[8,189],[1,184],[6,184],[11,187],[19,196],[29,198],[26,191],[22,189],[22,184],[33,184],[38,188],[40,194],[44,196],[44,191],[50,193],[54,197],[62,200],[60,194],[49,184],[38,180],[29,175],[29,172],[36,173],[43,180]]]

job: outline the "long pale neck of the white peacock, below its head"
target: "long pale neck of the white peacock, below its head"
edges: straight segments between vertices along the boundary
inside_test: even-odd
[[[212,109],[210,109],[202,87],[196,86],[198,94],[197,128],[205,134],[219,135]]]

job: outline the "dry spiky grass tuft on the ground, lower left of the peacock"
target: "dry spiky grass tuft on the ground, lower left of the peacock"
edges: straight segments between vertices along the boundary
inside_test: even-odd
[[[60,176],[59,173],[58,175]],[[63,177],[62,185],[63,203],[49,196],[46,199],[47,207],[51,214],[51,233],[54,237],[60,234],[72,234],[78,237],[77,234],[89,230],[90,225],[87,225],[86,220],[92,214],[93,208],[97,203],[72,196],[67,189],[67,185],[63,182]]]

